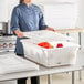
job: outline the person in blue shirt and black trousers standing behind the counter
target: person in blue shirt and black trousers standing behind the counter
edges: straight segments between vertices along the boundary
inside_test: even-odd
[[[38,6],[31,3],[31,0],[20,0],[20,4],[13,9],[11,30],[18,36],[15,53],[19,56],[24,56],[20,42],[20,39],[23,38],[23,32],[36,30],[54,31],[44,23],[43,13]],[[25,81],[27,78],[19,78],[18,84],[27,84]],[[40,84],[39,77],[31,77],[31,84]]]

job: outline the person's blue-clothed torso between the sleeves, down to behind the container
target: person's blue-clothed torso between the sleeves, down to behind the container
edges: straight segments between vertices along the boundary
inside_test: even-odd
[[[25,3],[19,4],[17,8],[20,30],[22,32],[39,30],[39,8],[34,4],[30,4],[28,7]],[[19,38],[17,39],[15,53],[24,54],[23,46]]]

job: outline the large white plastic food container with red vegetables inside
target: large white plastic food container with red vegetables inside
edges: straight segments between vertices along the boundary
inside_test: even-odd
[[[27,59],[48,67],[75,64],[76,52],[80,48],[78,44],[67,42],[66,40],[62,41],[62,39],[61,41],[56,41],[56,38],[55,41],[51,41],[51,39],[46,40],[46,38],[44,39],[45,40],[42,41],[49,41],[54,48],[44,49],[39,46],[38,43],[42,42],[41,38],[21,40],[24,49],[24,55]],[[57,43],[62,43],[63,48],[56,48]]]

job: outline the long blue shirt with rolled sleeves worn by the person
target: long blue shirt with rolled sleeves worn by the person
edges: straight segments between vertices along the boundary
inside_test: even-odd
[[[12,11],[11,17],[11,30],[14,32],[17,29],[22,32],[44,30],[46,29],[44,22],[43,13],[40,8],[35,4],[30,4],[29,7],[23,2],[17,6]],[[23,48],[20,39],[17,39],[15,53],[23,54]]]

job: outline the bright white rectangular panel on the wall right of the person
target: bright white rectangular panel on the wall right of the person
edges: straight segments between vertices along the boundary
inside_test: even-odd
[[[55,3],[44,6],[44,19],[54,29],[74,29],[77,18],[75,3]]]

